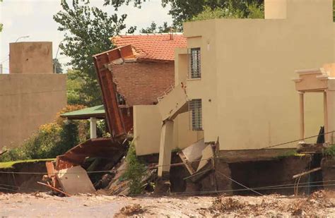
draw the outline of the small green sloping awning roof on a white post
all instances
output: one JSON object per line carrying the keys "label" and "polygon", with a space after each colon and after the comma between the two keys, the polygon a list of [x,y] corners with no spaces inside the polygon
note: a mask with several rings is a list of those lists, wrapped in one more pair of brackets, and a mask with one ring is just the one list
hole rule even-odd
{"label": "small green sloping awning roof on a white post", "polygon": [[61,117],[66,117],[67,119],[90,119],[90,117],[95,117],[98,119],[105,119],[105,108],[103,105],[88,107],[78,111],[71,111],[65,114],[61,114]]}

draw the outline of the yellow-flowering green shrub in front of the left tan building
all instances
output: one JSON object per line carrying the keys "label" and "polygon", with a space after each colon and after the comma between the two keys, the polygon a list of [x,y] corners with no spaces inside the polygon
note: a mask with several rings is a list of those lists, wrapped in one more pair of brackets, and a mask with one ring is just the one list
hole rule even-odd
{"label": "yellow-flowering green shrub in front of the left tan building", "polygon": [[54,158],[86,140],[88,121],[68,121],[60,117],[60,114],[83,108],[82,105],[66,106],[57,114],[54,122],[40,126],[37,133],[25,140],[22,146],[1,155],[0,162]]}

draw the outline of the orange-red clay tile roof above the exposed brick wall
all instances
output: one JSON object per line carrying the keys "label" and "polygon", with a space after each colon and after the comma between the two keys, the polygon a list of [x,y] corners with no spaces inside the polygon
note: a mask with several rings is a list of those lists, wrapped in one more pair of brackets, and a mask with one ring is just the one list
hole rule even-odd
{"label": "orange-red clay tile roof above the exposed brick wall", "polygon": [[130,44],[139,61],[175,61],[175,49],[187,47],[181,33],[119,35],[110,40],[117,47]]}

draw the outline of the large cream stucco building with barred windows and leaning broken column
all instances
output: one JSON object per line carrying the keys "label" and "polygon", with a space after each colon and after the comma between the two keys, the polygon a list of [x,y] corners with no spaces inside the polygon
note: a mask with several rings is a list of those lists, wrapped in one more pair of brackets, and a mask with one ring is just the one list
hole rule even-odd
{"label": "large cream stucco building with barred windows and leaning broken column", "polygon": [[[264,6],[265,19],[184,23],[187,48],[176,50],[175,89],[157,105],[134,107],[138,155],[159,152],[160,165],[169,164],[172,149],[201,138],[227,161],[298,145],[262,149],[300,138],[291,79],[298,69],[335,61],[332,1],[265,0]],[[324,126],[323,99],[318,92],[305,95],[306,137]]]}

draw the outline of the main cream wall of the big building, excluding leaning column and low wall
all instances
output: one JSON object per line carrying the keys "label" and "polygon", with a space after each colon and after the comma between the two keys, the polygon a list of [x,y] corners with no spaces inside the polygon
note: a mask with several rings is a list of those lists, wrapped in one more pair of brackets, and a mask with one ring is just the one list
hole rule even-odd
{"label": "main cream wall of the big building, excluding leaning column and low wall", "polygon": [[[187,94],[202,99],[206,142],[219,138],[221,150],[245,150],[299,138],[291,78],[297,69],[334,62],[332,1],[287,0],[286,13],[184,24],[187,47],[201,47],[202,77],[187,80]],[[322,96],[307,95],[306,136],[322,126],[322,106]]]}

